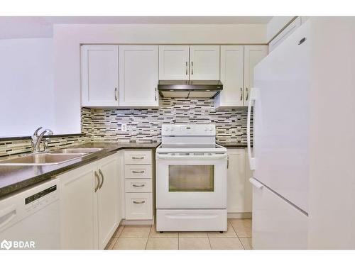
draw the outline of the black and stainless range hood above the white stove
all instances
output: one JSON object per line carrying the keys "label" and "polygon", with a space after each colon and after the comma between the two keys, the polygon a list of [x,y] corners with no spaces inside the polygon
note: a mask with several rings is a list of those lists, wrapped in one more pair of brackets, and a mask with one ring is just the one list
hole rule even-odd
{"label": "black and stainless range hood above the white stove", "polygon": [[219,80],[159,80],[158,92],[165,98],[214,98],[223,89]]}

